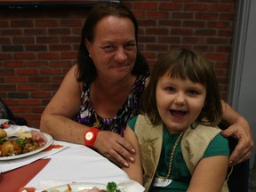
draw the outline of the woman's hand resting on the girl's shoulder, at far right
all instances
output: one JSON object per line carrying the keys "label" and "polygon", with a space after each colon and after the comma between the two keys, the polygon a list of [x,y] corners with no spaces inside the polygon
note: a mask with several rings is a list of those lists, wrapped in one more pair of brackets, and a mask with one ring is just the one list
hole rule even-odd
{"label": "woman's hand resting on the girl's shoulder, at far right", "polygon": [[224,137],[233,137],[238,140],[236,148],[229,156],[229,166],[239,164],[250,158],[253,147],[252,132],[250,125],[244,118],[240,118],[235,124],[231,124],[221,134]]}

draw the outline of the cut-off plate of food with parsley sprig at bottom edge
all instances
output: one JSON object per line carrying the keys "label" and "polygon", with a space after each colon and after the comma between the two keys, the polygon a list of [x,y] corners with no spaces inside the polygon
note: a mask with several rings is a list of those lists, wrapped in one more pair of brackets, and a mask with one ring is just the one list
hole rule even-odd
{"label": "cut-off plate of food with parsley sprig at bottom edge", "polygon": [[94,182],[77,182],[49,188],[47,192],[121,192],[115,182],[108,182],[108,185]]}

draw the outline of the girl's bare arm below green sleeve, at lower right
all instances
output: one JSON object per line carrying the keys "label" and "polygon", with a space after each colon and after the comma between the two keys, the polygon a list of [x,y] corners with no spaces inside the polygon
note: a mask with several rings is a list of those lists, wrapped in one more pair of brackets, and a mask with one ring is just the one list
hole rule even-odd
{"label": "girl's bare arm below green sleeve, at lower right", "polygon": [[196,165],[188,192],[220,192],[228,172],[228,156],[205,157]]}

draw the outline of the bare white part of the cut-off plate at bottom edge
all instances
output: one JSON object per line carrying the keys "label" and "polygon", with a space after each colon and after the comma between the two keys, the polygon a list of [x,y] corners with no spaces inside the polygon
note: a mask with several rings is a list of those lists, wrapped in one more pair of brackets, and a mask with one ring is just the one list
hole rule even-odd
{"label": "bare white part of the cut-off plate at bottom edge", "polygon": [[[72,192],[78,192],[82,191],[84,189],[91,189],[93,187],[100,188],[100,189],[106,189],[106,185],[102,183],[93,183],[93,182],[78,182],[78,183],[70,183],[69,186],[72,188]],[[66,185],[60,185],[54,188],[48,188],[47,191],[50,191],[55,189],[59,190],[60,192],[64,192],[68,188],[68,184]]]}

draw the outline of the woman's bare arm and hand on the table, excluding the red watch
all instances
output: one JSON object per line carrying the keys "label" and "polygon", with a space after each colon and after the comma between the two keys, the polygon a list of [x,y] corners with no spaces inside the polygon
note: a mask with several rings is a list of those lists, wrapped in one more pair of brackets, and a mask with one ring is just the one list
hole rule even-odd
{"label": "woman's bare arm and hand on the table, excluding the red watch", "polygon": [[[82,84],[76,81],[76,68],[70,68],[59,90],[44,109],[40,130],[51,134],[54,140],[84,144],[84,132],[89,127],[72,120],[80,106],[82,89]],[[133,146],[115,132],[100,131],[93,148],[119,166],[129,166],[129,161],[133,161]]]}

